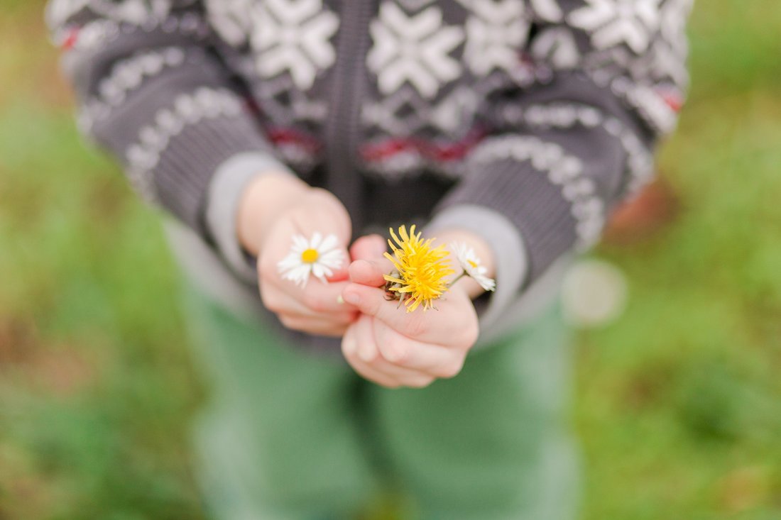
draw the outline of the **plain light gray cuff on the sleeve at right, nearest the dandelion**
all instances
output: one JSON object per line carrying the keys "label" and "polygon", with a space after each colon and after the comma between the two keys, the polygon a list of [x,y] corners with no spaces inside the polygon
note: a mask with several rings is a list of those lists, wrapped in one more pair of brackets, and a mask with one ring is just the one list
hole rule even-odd
{"label": "plain light gray cuff on the sleeve at right, nearest the dandelion", "polygon": [[426,234],[450,229],[475,233],[494,251],[496,291],[490,295],[487,308],[480,313],[480,330],[489,329],[515,301],[526,281],[526,245],[505,215],[480,205],[454,205],[444,209],[426,226]]}

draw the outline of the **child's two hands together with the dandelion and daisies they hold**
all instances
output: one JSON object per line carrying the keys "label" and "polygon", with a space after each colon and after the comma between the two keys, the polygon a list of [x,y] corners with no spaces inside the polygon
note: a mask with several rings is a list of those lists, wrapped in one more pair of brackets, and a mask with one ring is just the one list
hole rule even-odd
{"label": "child's two hands together with the dandelion and daisies they hold", "polygon": [[[244,201],[248,213],[241,217],[264,224],[239,223],[242,244],[258,255],[266,308],[291,329],[341,336],[348,363],[380,385],[422,387],[458,374],[479,333],[471,297],[495,287],[490,268],[466,245],[479,244],[484,254],[489,250],[480,238],[443,233],[464,241],[451,247],[454,255],[423,240],[414,226],[409,233],[402,226],[398,235],[391,230],[393,255],[375,235],[356,240],[348,256],[351,228],[344,206],[296,182],[262,178]],[[354,260],[349,268],[348,258]],[[454,264],[462,273],[452,280]],[[310,276],[323,283],[308,283]]]}

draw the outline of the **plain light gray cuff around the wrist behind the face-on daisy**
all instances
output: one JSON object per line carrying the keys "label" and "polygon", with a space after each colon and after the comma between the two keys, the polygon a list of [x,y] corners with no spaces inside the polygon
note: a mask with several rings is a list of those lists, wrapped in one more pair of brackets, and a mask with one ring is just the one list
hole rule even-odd
{"label": "plain light gray cuff around the wrist behind the face-on daisy", "polygon": [[255,264],[239,243],[236,224],[239,203],[248,184],[262,175],[294,175],[273,156],[263,152],[234,155],[220,164],[209,183],[205,223],[219,253],[230,269],[247,283],[258,283]]}

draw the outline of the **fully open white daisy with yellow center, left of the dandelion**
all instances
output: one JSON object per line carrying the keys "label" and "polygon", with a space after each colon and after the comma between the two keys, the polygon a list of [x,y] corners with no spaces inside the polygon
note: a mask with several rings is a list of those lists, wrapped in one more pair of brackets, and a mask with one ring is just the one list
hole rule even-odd
{"label": "fully open white daisy with yellow center, left of the dandelion", "polygon": [[326,276],[333,275],[332,269],[339,269],[344,262],[344,251],[337,248],[336,235],[315,233],[312,240],[302,235],[293,236],[291,252],[276,264],[283,280],[291,280],[296,285],[306,287],[311,272],[323,283]]}

